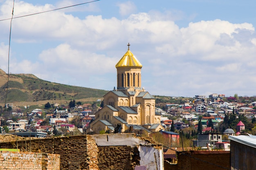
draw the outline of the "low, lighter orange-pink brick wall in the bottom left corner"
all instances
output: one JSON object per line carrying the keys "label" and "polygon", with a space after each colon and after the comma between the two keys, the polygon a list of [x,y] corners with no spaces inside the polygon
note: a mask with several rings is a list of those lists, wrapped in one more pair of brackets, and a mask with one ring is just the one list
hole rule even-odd
{"label": "low, lighter orange-pink brick wall in the bottom left corner", "polygon": [[0,152],[0,170],[60,170],[60,155],[35,152]]}

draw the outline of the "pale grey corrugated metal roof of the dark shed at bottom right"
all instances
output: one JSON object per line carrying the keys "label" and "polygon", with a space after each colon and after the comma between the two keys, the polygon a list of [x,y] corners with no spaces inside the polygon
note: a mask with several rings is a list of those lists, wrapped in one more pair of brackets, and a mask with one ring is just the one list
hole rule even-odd
{"label": "pale grey corrugated metal roof of the dark shed at bottom right", "polygon": [[246,135],[229,136],[229,139],[233,140],[233,141],[236,141],[240,144],[244,144],[244,145],[256,148],[256,136],[254,136],[254,135],[250,135],[250,136],[246,136]]}

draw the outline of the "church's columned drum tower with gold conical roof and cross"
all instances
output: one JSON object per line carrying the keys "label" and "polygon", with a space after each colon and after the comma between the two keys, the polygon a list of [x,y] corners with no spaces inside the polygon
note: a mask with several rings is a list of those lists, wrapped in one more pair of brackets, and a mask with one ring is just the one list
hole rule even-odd
{"label": "church's columned drum tower with gold conical roof and cross", "polygon": [[128,51],[116,64],[117,68],[117,89],[141,89],[141,68],[142,65],[135,55],[130,51],[128,43]]}

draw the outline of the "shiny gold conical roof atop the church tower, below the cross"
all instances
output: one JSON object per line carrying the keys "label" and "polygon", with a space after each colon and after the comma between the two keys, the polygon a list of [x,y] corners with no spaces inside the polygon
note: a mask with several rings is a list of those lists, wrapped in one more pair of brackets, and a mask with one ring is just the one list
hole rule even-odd
{"label": "shiny gold conical roof atop the church tower, below the cross", "polygon": [[139,60],[137,60],[137,58],[132,54],[130,49],[128,49],[128,51],[124,54],[121,60],[119,60],[119,62],[116,64],[116,68],[130,66],[142,67]]}

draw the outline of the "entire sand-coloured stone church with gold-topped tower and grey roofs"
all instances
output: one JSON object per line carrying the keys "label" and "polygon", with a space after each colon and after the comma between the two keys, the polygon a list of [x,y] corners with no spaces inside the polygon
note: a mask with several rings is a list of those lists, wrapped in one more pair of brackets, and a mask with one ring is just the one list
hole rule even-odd
{"label": "entire sand-coloured stone church with gold-topped tower and grey roofs", "polygon": [[141,88],[142,65],[135,55],[128,51],[117,62],[117,88],[103,96],[103,108],[95,113],[90,130],[120,132],[145,130],[148,133],[163,130],[161,115],[155,113],[155,98]]}

